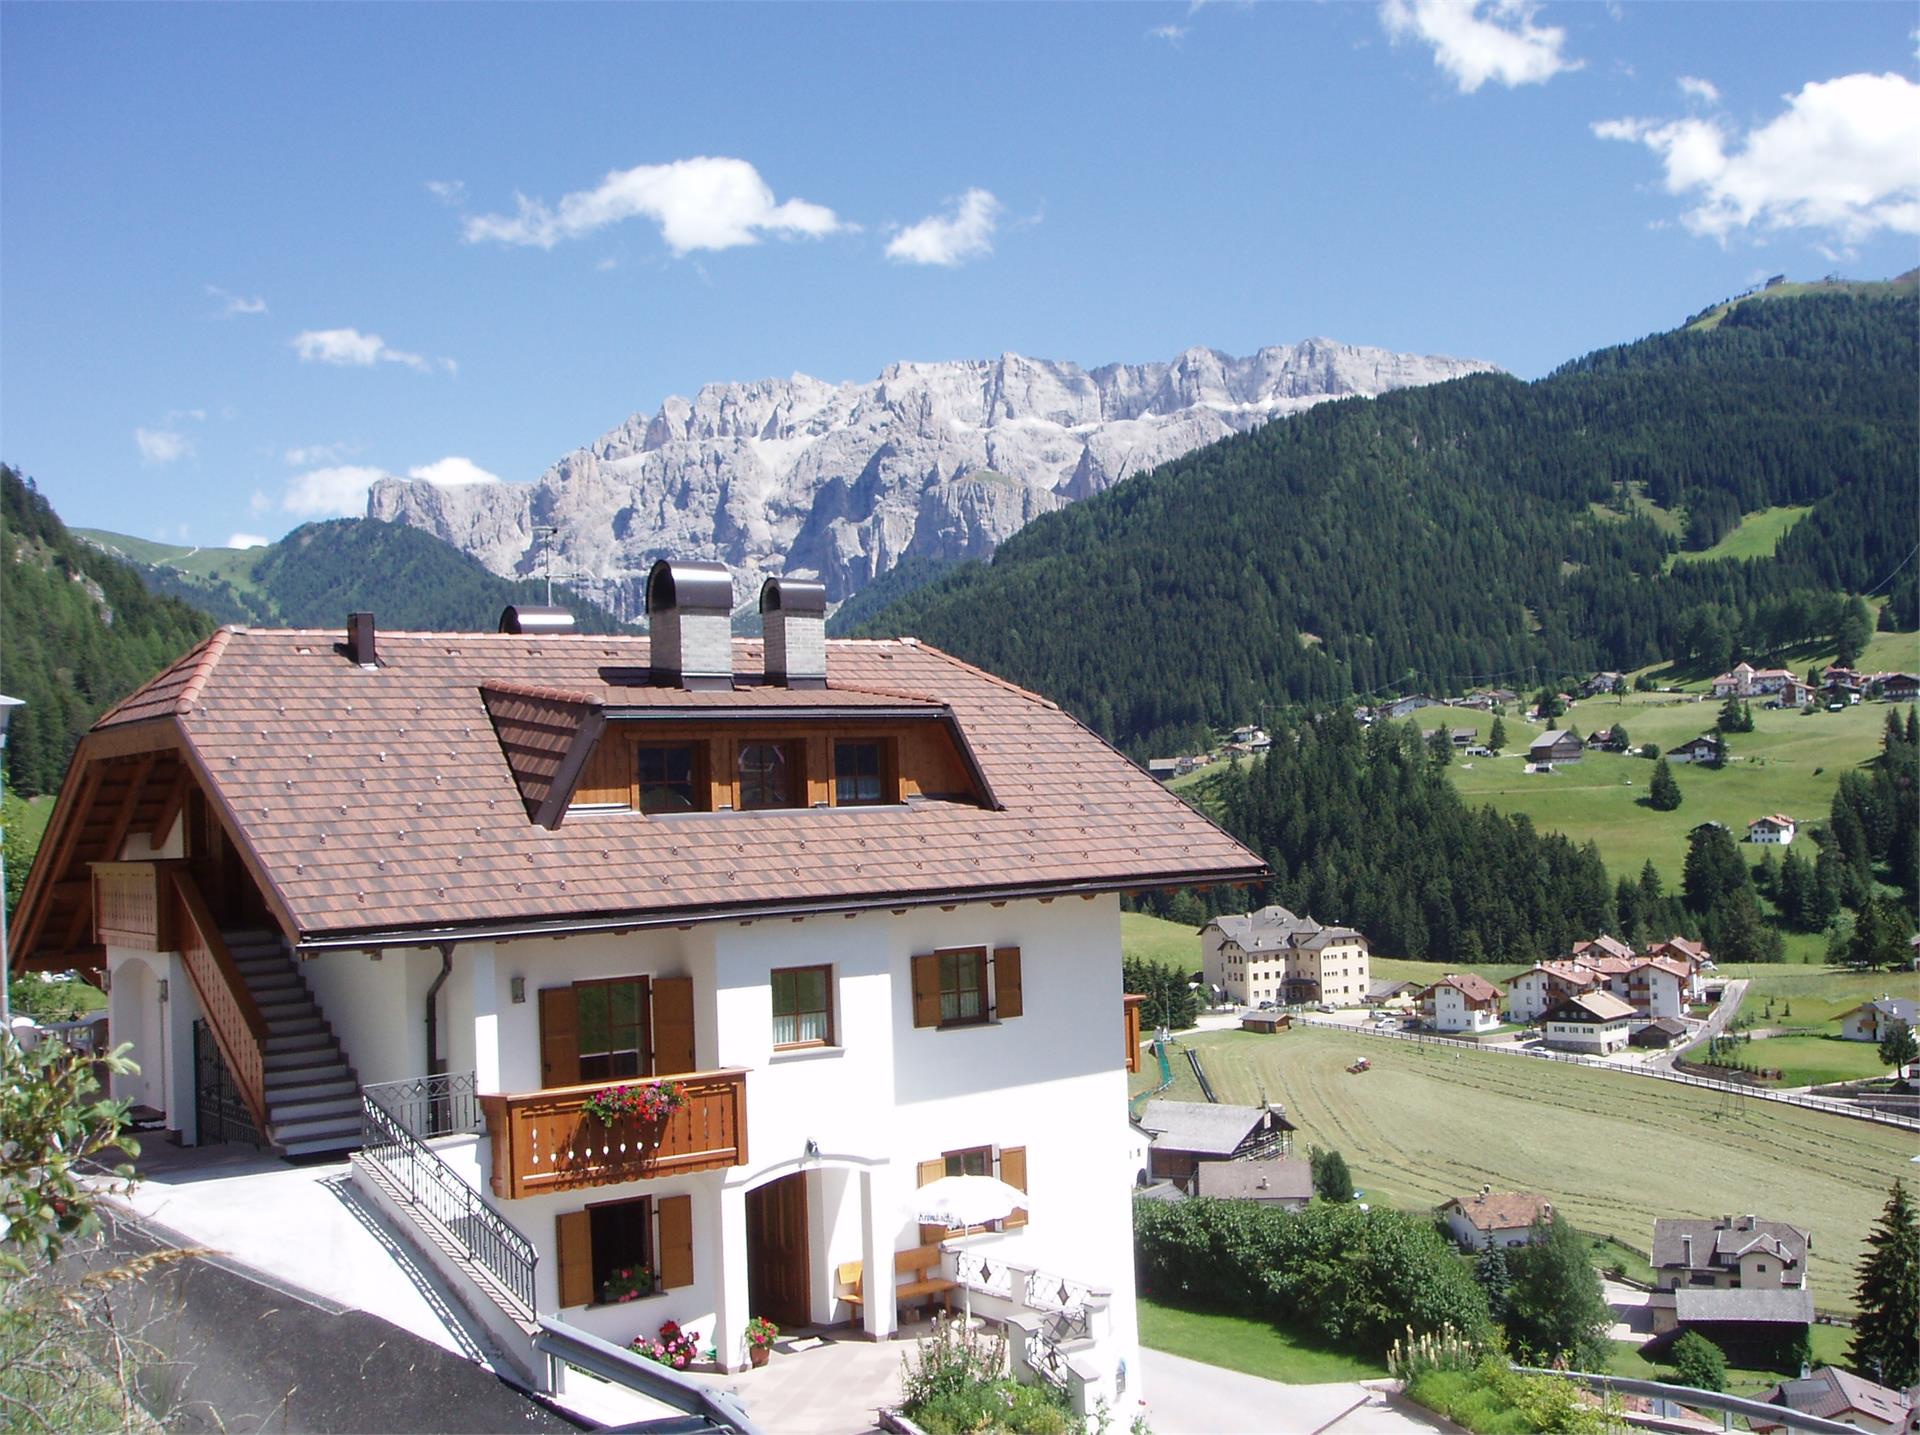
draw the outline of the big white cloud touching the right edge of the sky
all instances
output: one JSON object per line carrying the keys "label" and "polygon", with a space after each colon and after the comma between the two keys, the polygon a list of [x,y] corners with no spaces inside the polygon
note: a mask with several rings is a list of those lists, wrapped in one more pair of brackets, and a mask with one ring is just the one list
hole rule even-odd
{"label": "big white cloud touching the right edge of the sky", "polygon": [[1718,117],[1605,119],[1594,134],[1657,154],[1665,190],[1695,200],[1682,215],[1695,234],[1809,229],[1841,244],[1920,234],[1920,85],[1841,75],[1786,104],[1747,134]]}

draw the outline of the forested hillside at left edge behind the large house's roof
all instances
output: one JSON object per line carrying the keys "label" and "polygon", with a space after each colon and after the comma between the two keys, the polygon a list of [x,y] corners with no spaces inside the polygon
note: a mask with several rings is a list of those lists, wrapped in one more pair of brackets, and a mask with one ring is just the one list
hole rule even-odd
{"label": "forested hillside at left edge behind the large house's roof", "polygon": [[150,594],[0,467],[0,692],[25,701],[8,728],[10,791],[58,788],[94,718],[209,632],[213,619]]}

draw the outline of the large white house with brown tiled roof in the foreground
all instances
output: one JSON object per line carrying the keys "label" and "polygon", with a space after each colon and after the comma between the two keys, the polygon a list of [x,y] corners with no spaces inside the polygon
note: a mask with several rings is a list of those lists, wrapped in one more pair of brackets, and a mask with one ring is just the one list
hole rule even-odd
{"label": "large white house with brown tiled roof in the foreground", "polygon": [[[363,1147],[536,1383],[541,1320],[737,1370],[749,1316],[887,1339],[972,1277],[1073,1293],[1081,1397],[1135,1399],[1119,893],[1261,861],[1054,703],[828,642],[820,584],[732,605],[662,561],[651,638],[223,628],[81,742],[15,961],[108,985],[180,1141]],[[1031,1197],[985,1270],[914,1224],[947,1174]]]}

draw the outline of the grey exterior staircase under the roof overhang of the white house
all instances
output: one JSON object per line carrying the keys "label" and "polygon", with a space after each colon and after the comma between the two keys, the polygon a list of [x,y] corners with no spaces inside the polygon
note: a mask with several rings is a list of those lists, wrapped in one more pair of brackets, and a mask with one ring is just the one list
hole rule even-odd
{"label": "grey exterior staircase under the roof overhang of the white house", "polygon": [[359,1078],[278,932],[225,932],[267,1020],[267,1143],[284,1156],[357,1151]]}

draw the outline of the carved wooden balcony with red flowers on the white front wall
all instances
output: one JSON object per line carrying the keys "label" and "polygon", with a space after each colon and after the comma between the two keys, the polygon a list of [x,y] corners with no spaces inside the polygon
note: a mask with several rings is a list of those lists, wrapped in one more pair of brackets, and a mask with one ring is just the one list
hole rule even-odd
{"label": "carved wooden balcony with red flowers on the white front wall", "polygon": [[493,1195],[507,1201],[586,1185],[747,1164],[747,1072],[689,1072],[674,1082],[685,1105],[660,1122],[601,1122],[582,1107],[607,1085],[561,1085],[480,1097],[493,1149]]}

